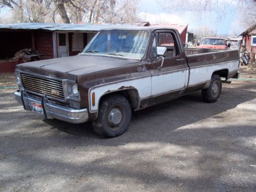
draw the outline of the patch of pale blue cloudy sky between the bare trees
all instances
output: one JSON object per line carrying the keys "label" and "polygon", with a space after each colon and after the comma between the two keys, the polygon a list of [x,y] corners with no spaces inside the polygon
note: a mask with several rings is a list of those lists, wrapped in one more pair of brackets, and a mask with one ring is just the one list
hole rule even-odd
{"label": "patch of pale blue cloudy sky between the bare trees", "polygon": [[234,11],[230,8],[225,10],[225,15],[222,19],[218,19],[217,13],[205,13],[199,18],[192,11],[179,13],[172,10],[172,13],[164,10],[155,0],[140,0],[141,17],[151,24],[188,24],[188,31],[201,26],[209,26],[216,30],[218,34],[228,34],[231,24],[236,18]]}

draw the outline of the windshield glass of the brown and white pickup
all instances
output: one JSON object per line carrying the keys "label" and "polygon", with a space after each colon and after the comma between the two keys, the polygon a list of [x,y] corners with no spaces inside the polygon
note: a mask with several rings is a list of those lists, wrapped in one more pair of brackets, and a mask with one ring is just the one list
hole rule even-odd
{"label": "windshield glass of the brown and white pickup", "polygon": [[83,50],[83,54],[142,58],[149,33],[142,30],[100,31]]}

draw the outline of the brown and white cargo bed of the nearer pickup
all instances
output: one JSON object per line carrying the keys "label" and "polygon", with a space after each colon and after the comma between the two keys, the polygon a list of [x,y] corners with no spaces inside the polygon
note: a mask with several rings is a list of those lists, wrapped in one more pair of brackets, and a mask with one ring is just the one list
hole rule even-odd
{"label": "brown and white cargo bed of the nearer pickup", "polygon": [[[200,53],[201,52],[201,53]],[[215,71],[221,77],[232,78],[239,69],[238,50],[185,49],[189,67],[188,88],[200,84],[207,87]]]}

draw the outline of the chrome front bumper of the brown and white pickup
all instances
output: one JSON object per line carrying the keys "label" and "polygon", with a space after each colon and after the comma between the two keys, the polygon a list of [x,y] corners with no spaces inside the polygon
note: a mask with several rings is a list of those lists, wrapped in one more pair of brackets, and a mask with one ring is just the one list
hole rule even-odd
{"label": "chrome front bumper of the brown and white pickup", "polygon": [[83,123],[88,121],[88,111],[86,108],[72,109],[66,106],[53,104],[49,102],[46,95],[44,95],[41,100],[38,100],[31,98],[25,92],[18,90],[14,92],[14,98],[18,103],[22,104],[27,111],[33,110],[33,102],[41,104],[44,110],[44,115],[48,119],[56,118],[71,123]]}

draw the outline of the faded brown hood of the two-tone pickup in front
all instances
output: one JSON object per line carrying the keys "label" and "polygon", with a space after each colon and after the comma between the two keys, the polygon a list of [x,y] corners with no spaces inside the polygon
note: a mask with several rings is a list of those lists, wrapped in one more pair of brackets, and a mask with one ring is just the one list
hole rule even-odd
{"label": "faded brown hood of the two-tone pickup in front", "polygon": [[113,69],[136,62],[140,62],[140,60],[100,55],[76,55],[27,62],[17,65],[16,69],[28,73],[76,80],[78,75]]}

